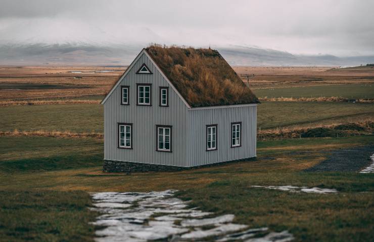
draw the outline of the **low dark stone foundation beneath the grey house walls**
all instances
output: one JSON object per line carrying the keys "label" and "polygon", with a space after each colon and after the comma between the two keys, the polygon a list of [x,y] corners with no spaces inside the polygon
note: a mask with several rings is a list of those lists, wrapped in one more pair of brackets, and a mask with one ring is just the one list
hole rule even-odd
{"label": "low dark stone foundation beneath the grey house walls", "polygon": [[256,157],[239,159],[239,160],[231,160],[231,161],[219,162],[219,163],[213,163],[213,164],[207,164],[207,165],[199,165],[199,166],[194,166],[194,167],[182,167],[182,166],[172,166],[172,165],[145,164],[145,163],[128,162],[128,161],[104,160],[103,171],[104,172],[125,172],[125,173],[147,172],[147,171],[178,171],[178,170],[189,170],[189,169],[197,169],[197,168],[202,168],[202,167],[223,165],[223,164],[239,162],[239,161],[250,161],[254,159],[256,159]]}

